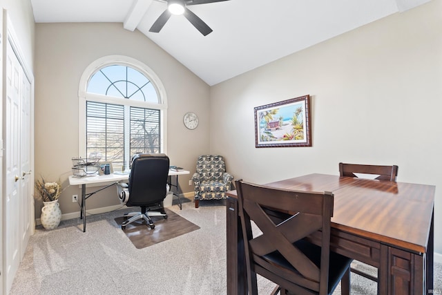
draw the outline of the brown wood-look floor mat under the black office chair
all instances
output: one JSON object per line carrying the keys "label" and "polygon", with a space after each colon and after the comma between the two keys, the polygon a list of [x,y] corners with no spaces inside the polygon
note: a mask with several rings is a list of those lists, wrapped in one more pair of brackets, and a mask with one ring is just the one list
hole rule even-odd
{"label": "brown wood-look floor mat under the black office chair", "polygon": [[[155,245],[158,242],[164,242],[165,240],[170,240],[177,236],[190,233],[200,229],[198,225],[193,224],[189,220],[182,218],[176,213],[169,209],[165,209],[167,214],[167,219],[162,216],[151,217],[154,229],[151,229],[142,219],[132,222],[126,225],[126,229],[122,229],[124,234],[131,240],[135,248],[143,249],[151,245]],[[121,225],[123,222],[123,217],[115,218],[117,225]]]}

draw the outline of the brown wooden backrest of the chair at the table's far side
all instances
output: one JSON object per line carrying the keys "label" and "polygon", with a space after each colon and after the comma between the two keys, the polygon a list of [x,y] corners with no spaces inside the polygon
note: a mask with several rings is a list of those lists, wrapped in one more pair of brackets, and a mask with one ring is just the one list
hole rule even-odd
{"label": "brown wooden backrest of the chair at the table's far side", "polygon": [[396,176],[398,175],[398,166],[339,163],[340,176],[358,177],[354,173],[379,175],[375,179],[396,182]]}

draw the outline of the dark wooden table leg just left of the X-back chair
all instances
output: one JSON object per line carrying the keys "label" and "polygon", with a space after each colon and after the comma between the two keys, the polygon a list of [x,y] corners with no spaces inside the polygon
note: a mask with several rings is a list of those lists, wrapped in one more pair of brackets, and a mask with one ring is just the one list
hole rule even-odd
{"label": "dark wooden table leg just left of the X-back chair", "polygon": [[227,294],[247,294],[244,242],[238,200],[227,198]]}

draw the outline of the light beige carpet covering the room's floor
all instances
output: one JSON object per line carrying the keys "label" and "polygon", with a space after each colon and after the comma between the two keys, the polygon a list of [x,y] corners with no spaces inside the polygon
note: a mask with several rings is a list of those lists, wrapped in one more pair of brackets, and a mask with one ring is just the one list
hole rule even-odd
{"label": "light beige carpet covering the room's floor", "polygon": [[[115,222],[135,207],[89,215],[86,232],[79,218],[51,231],[37,227],[9,295],[226,295],[226,207],[206,201],[195,209],[192,201],[168,209],[200,229],[144,249],[135,248]],[[352,295],[376,295],[375,283],[356,274],[350,281]],[[258,294],[273,287],[258,276]],[[434,263],[434,294],[441,290],[442,264]]]}

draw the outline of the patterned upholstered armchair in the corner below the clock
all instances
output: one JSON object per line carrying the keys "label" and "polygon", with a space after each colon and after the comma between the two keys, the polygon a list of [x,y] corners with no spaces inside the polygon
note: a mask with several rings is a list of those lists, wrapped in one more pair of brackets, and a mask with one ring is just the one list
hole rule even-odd
{"label": "patterned upholstered armchair in the corner below the clock", "polygon": [[196,164],[196,173],[192,176],[195,184],[195,208],[200,200],[225,199],[225,193],[231,189],[233,175],[226,172],[222,155],[200,155]]}

